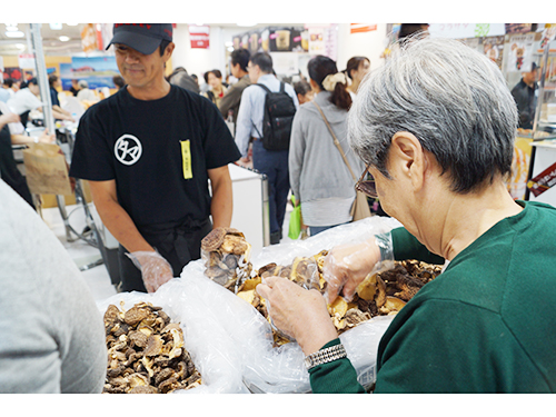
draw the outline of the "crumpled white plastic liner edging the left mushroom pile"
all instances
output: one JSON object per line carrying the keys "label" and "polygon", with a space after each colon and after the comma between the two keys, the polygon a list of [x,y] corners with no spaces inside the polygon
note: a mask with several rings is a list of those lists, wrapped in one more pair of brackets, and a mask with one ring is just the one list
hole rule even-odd
{"label": "crumpled white plastic liner edging the left mushroom pile", "polygon": [[[219,287],[208,278],[203,279]],[[121,292],[97,302],[97,307],[103,315],[111,304],[121,308],[120,301],[125,301],[123,309],[128,310],[136,302],[146,301],[162,307],[173,322],[180,322],[185,348],[201,374],[202,384],[172,394],[248,393],[241,381],[241,356],[238,349],[235,347],[230,349],[230,346],[234,346],[232,340],[211,315],[203,315],[208,306],[195,296],[195,291],[186,288],[187,284],[180,279],[172,279],[157,292]]]}

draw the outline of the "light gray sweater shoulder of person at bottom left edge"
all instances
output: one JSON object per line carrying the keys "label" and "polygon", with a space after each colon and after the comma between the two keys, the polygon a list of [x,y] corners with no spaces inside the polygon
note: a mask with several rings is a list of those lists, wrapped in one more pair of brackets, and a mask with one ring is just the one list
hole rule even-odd
{"label": "light gray sweater shoulder of person at bottom left edge", "polygon": [[91,291],[42,219],[0,180],[0,393],[100,394],[105,326]]}

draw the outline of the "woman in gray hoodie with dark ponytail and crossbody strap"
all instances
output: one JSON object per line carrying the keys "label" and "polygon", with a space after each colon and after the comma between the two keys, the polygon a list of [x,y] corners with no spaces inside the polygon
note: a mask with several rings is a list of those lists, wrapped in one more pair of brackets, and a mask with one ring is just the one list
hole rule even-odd
{"label": "woman in gray hoodie with dark ponytail and crossbody strap", "polygon": [[[347,143],[347,115],[351,97],[347,79],[336,62],[317,56],[307,64],[315,100],[301,105],[294,118],[289,148],[289,183],[301,203],[304,224],[311,236],[351,221],[356,191],[354,178],[335,145],[325,119],[336,136],[351,169],[365,166]],[[320,110],[319,110],[320,109]]]}

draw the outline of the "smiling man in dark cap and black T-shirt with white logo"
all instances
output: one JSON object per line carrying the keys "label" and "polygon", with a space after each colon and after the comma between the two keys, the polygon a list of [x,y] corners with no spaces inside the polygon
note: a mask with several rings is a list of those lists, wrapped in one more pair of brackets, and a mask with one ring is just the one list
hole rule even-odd
{"label": "smiling man in dark cap and black T-shirt with white logo", "polygon": [[122,290],[152,292],[200,257],[212,227],[229,227],[228,163],[241,155],[209,100],[166,80],[170,23],[116,23],[112,44],[127,86],[81,117],[70,175],[90,181],[120,242]]}

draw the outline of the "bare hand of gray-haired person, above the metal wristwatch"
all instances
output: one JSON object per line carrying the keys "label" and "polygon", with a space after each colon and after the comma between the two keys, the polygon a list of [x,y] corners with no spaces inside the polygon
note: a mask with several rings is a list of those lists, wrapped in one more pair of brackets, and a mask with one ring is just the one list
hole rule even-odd
{"label": "bare hand of gray-haired person, above the metal wristwatch", "polygon": [[316,289],[307,290],[286,278],[264,278],[257,292],[265,298],[272,322],[294,337],[305,355],[318,351],[338,337],[326,307]]}

